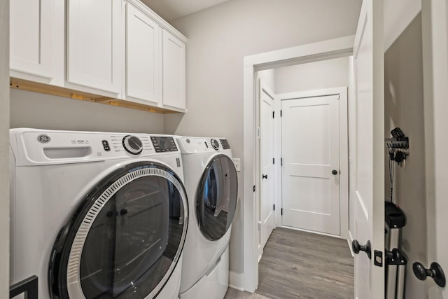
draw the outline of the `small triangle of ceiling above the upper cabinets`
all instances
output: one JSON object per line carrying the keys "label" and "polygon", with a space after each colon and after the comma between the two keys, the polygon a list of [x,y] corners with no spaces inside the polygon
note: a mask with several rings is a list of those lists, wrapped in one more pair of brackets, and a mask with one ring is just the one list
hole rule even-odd
{"label": "small triangle of ceiling above the upper cabinets", "polygon": [[229,0],[141,0],[160,17],[171,22]]}

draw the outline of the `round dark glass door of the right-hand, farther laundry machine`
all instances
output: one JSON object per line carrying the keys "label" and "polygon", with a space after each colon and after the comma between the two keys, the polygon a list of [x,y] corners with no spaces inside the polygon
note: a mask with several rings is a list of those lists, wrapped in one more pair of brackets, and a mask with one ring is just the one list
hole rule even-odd
{"label": "round dark glass door of the right-hand, farther laundry machine", "polygon": [[237,207],[237,170],[227,155],[216,155],[204,170],[197,190],[197,219],[202,235],[218,240],[225,235]]}

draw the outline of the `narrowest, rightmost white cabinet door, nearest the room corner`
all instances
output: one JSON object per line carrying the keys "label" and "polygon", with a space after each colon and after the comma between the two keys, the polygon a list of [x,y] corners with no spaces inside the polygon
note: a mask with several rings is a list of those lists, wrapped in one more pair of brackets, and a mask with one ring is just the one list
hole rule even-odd
{"label": "narrowest, rightmost white cabinet door, nearest the room corner", "polygon": [[163,32],[163,106],[186,109],[185,43]]}

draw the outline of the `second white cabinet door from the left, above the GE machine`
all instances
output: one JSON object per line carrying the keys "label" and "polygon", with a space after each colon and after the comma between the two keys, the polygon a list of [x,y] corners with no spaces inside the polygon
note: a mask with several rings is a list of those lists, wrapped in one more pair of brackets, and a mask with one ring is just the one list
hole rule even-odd
{"label": "second white cabinet door from the left, above the GE machine", "polygon": [[67,81],[121,91],[121,1],[67,1]]}

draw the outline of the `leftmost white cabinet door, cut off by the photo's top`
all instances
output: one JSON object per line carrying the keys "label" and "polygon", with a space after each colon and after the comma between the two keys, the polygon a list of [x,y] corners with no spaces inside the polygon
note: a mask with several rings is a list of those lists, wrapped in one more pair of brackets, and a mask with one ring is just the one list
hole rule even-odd
{"label": "leftmost white cabinet door, cut off by the photo's top", "polygon": [[54,0],[10,1],[10,69],[53,78]]}

